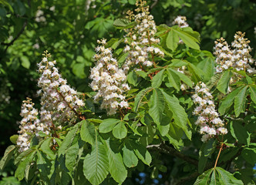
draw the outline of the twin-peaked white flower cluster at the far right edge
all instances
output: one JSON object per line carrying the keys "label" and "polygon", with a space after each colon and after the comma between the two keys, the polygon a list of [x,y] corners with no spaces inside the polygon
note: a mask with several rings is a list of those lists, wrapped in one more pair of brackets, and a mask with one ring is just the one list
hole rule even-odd
{"label": "twin-peaked white flower cluster at the far right edge", "polygon": [[217,62],[216,72],[223,72],[231,67],[237,71],[255,72],[255,69],[250,66],[254,62],[250,55],[251,47],[248,45],[250,41],[244,39],[244,35],[242,32],[237,32],[234,35],[234,42],[231,43],[233,49],[230,49],[225,39],[217,39],[214,47]]}

